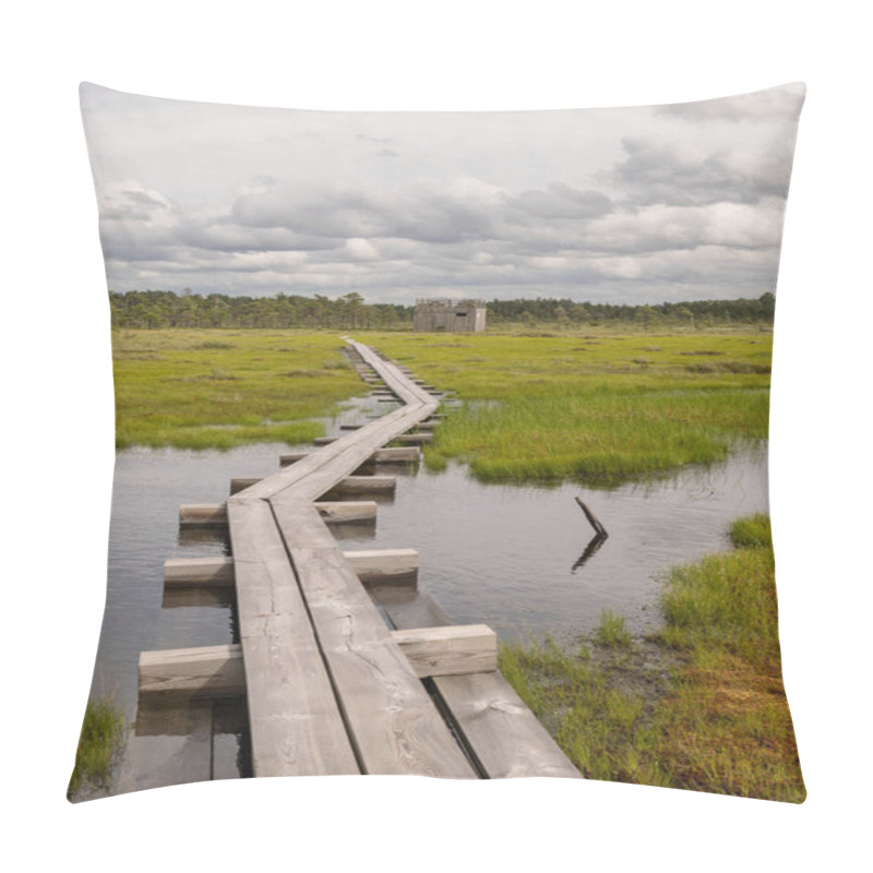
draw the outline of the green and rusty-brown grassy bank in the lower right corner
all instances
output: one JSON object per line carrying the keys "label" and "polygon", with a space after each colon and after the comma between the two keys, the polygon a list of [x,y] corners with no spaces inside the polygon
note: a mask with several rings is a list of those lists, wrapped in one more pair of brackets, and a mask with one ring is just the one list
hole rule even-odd
{"label": "green and rusty-brown grassy bank in the lower right corner", "polygon": [[800,803],[805,789],[781,680],[766,516],[734,550],[677,567],[663,630],[635,641],[605,614],[576,650],[501,649],[500,667],[593,779]]}

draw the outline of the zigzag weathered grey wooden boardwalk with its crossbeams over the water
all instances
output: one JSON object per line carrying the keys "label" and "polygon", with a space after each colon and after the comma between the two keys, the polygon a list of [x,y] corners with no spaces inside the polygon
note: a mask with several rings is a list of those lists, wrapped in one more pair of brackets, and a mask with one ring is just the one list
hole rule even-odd
{"label": "zigzag weathered grey wooden boardwalk with its crossbeams over the water", "polygon": [[498,671],[494,633],[453,625],[416,589],[414,550],[343,551],[331,533],[376,509],[337,497],[393,487],[362,470],[420,454],[384,446],[426,442],[438,421],[432,388],[348,344],[403,405],[234,480],[226,504],[182,507],[183,524],[226,524],[232,558],[170,560],[165,584],[235,586],[240,643],[143,653],[141,695],[244,694],[255,776],[578,777]]}

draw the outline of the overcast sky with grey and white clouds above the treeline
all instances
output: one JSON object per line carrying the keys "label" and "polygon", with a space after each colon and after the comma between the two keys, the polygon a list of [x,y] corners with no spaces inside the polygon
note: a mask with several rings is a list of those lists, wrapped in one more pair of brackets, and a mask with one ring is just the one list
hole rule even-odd
{"label": "overcast sky with grey and white clouds above the treeline", "polygon": [[82,86],[109,288],[400,303],[774,291],[802,101],[318,112]]}

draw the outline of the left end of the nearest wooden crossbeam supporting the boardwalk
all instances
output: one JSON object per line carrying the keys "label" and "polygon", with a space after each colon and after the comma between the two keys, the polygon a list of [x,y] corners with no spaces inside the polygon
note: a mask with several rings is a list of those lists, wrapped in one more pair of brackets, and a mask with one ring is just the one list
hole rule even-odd
{"label": "left end of the nearest wooden crossbeam supporting the boardwalk", "polygon": [[176,648],[140,654],[140,695],[236,696],[243,685],[237,645]]}

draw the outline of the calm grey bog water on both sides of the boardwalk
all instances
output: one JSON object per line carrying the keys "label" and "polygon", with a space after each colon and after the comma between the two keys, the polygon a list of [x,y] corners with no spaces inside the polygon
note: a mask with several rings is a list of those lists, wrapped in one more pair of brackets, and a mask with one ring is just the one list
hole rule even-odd
{"label": "calm grey bog water on both sides of the boardwalk", "polygon": [[[340,423],[392,408],[359,400],[331,419],[327,432],[339,435]],[[231,596],[165,597],[163,564],[227,554],[220,537],[180,535],[180,504],[219,503],[231,477],[268,476],[288,451],[263,444],[118,453],[93,693],[112,694],[135,730],[112,792],[248,775],[244,703],[137,708],[137,661],[144,650],[238,642]],[[342,547],[418,550],[419,589],[453,621],[488,624],[504,641],[548,632],[572,643],[598,625],[605,608],[624,615],[633,634],[655,629],[669,567],[729,548],[729,524],[768,507],[766,446],[610,491],[483,486],[461,465],[439,474],[423,466],[396,471],[403,474],[396,494],[380,499],[375,525],[346,526]],[[609,533],[599,548],[587,548],[594,531],[575,498]]]}

